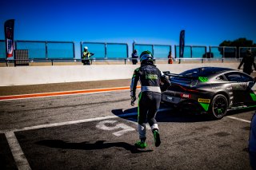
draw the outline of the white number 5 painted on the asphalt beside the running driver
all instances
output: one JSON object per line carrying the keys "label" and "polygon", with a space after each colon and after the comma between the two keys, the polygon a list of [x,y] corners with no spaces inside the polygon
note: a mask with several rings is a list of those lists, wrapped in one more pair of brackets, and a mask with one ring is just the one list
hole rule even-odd
{"label": "white number 5 painted on the asphalt beside the running driver", "polygon": [[118,121],[101,121],[96,125],[97,128],[102,129],[102,130],[116,130],[122,128],[122,130],[119,130],[118,132],[114,132],[113,135],[115,136],[122,136],[126,132],[131,132],[134,131],[135,128],[132,128],[128,125],[125,124],[117,124]]}

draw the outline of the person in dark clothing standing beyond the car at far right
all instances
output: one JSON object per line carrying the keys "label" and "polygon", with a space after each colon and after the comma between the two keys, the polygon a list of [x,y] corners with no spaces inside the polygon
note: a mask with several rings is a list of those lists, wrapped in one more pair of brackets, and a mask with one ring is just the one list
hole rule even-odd
{"label": "person in dark clothing standing beyond the car at far right", "polygon": [[253,72],[253,69],[252,69],[253,65],[254,65],[254,70],[256,71],[256,65],[254,63],[254,55],[250,49],[246,51],[246,56],[242,58],[242,61],[238,66],[238,69],[240,69],[242,65],[243,65],[243,69],[242,69],[243,73],[247,73],[250,75],[250,73]]}

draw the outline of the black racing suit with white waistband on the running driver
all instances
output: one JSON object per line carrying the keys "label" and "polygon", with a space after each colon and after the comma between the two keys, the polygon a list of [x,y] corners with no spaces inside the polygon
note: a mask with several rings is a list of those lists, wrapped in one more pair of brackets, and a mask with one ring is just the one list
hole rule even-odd
{"label": "black racing suit with white waistband on the running driver", "polygon": [[151,130],[158,130],[155,120],[161,102],[160,82],[164,83],[164,89],[170,86],[170,81],[151,61],[142,62],[141,67],[134,70],[130,85],[130,96],[136,96],[138,80],[141,83],[141,93],[138,98],[138,133],[141,140],[146,140],[146,121]]}

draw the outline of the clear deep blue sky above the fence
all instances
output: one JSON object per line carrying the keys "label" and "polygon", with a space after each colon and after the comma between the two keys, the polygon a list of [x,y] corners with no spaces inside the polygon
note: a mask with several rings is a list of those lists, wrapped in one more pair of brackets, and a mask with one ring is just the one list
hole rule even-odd
{"label": "clear deep blue sky above the fence", "polygon": [[14,18],[16,40],[178,45],[186,30],[186,45],[256,43],[255,7],[255,0],[1,0],[0,39]]}

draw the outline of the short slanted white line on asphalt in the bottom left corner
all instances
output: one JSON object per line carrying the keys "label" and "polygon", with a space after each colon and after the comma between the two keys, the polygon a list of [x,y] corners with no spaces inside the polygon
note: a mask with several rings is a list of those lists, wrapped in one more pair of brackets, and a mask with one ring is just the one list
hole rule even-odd
{"label": "short slanted white line on asphalt in the bottom left corner", "polygon": [[14,135],[14,132],[5,132],[5,135],[18,169],[31,169],[30,164],[26,160],[26,156],[22,152],[21,146],[18,144],[18,140]]}

